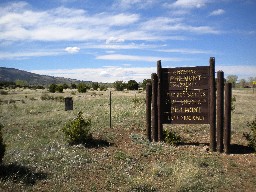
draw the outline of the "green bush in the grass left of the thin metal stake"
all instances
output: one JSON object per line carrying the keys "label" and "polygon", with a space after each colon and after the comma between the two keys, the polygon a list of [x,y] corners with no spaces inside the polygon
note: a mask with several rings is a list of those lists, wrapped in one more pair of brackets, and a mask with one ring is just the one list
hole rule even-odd
{"label": "green bush in the grass left of the thin metal stake", "polygon": [[92,140],[90,133],[91,120],[85,120],[80,111],[76,118],[66,123],[62,131],[69,144],[86,144]]}

